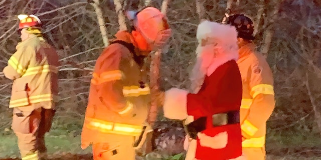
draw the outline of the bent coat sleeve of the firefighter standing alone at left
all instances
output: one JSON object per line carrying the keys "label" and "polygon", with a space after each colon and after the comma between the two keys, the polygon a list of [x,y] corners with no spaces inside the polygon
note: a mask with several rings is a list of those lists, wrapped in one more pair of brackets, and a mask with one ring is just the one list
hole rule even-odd
{"label": "bent coat sleeve of the firefighter standing alone at left", "polygon": [[36,54],[36,48],[33,46],[24,46],[9,58],[8,65],[3,72],[9,79],[20,78],[27,70],[30,59]]}

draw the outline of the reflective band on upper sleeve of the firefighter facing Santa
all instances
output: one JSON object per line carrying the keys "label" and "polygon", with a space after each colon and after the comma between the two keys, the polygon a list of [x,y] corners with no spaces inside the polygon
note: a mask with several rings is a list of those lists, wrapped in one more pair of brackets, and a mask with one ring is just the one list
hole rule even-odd
{"label": "reflective band on upper sleeve of the firefighter facing Santa", "polygon": [[102,72],[100,75],[98,75],[97,73],[93,73],[91,83],[98,85],[107,81],[120,80],[121,77],[122,74],[120,70],[105,71]]}

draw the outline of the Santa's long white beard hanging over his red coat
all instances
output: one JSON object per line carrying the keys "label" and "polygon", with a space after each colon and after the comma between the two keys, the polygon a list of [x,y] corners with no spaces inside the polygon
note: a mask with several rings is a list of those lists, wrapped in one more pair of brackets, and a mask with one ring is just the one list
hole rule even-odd
{"label": "Santa's long white beard hanging over his red coat", "polygon": [[190,75],[190,80],[191,80],[190,91],[192,93],[199,92],[199,90],[202,87],[205,75],[207,73],[207,69],[211,65],[215,57],[214,48],[215,47],[212,45],[206,45],[206,46],[199,45],[196,48],[197,59]]}

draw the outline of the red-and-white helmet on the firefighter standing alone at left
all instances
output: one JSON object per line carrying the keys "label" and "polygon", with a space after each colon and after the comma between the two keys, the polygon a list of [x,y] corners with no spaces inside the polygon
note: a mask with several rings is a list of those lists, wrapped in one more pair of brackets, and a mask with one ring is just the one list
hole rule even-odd
{"label": "red-and-white helmet on the firefighter standing alone at left", "polygon": [[41,28],[41,21],[36,15],[20,14],[18,18],[20,20],[19,29],[29,27]]}

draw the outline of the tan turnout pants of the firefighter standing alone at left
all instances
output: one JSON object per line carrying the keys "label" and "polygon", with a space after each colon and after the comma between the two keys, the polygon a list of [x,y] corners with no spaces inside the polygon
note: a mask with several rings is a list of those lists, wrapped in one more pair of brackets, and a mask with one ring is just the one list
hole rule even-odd
{"label": "tan turnout pants of the firefighter standing alone at left", "polygon": [[12,129],[18,137],[22,160],[38,160],[46,154],[45,133],[51,128],[55,110],[42,107],[32,111],[13,110]]}

